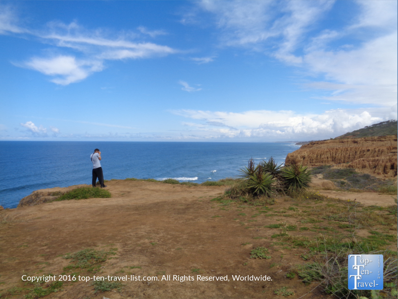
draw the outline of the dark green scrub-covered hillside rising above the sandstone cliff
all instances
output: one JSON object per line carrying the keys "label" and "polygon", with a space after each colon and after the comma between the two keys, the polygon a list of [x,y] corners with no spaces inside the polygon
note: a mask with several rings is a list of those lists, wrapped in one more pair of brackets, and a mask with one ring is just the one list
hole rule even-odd
{"label": "dark green scrub-covered hillside rising above the sandstone cliff", "polygon": [[397,135],[398,133],[397,126],[398,122],[394,120],[382,122],[369,127],[365,127],[363,129],[346,133],[344,135],[336,137],[335,139]]}

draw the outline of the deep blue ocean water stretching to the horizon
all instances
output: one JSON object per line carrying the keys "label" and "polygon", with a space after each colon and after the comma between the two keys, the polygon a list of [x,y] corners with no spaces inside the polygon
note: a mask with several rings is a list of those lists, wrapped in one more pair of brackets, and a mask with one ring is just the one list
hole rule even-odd
{"label": "deep blue ocean water stretching to the horizon", "polygon": [[104,179],[175,178],[201,183],[236,177],[253,157],[278,163],[291,143],[0,142],[0,205],[14,208],[37,189],[91,184],[90,154],[101,150]]}

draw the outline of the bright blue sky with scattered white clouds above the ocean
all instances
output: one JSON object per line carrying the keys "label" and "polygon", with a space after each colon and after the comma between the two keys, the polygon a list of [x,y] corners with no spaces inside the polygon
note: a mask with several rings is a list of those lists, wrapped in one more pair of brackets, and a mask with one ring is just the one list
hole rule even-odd
{"label": "bright blue sky with scattered white clouds above the ocean", "polygon": [[309,141],[397,120],[397,3],[0,1],[0,140]]}

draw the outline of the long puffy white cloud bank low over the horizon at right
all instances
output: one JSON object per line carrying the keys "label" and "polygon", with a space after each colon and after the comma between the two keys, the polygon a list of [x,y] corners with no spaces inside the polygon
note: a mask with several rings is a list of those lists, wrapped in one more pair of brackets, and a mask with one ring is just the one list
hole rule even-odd
{"label": "long puffy white cloud bank low over the horizon at right", "polygon": [[203,138],[250,138],[250,140],[328,139],[382,121],[397,119],[397,106],[356,110],[328,110],[323,114],[297,114],[293,111],[245,111],[242,113],[178,110],[173,114],[204,125],[185,123]]}

